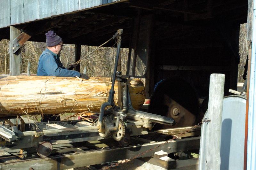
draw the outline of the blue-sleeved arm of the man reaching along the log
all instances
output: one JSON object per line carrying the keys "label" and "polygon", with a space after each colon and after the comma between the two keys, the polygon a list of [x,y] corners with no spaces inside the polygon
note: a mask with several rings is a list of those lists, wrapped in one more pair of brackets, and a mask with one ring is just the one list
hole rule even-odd
{"label": "blue-sleeved arm of the man reaching along the log", "polygon": [[58,67],[55,59],[52,56],[45,56],[43,68],[49,76],[56,77],[80,77],[80,73],[74,70]]}

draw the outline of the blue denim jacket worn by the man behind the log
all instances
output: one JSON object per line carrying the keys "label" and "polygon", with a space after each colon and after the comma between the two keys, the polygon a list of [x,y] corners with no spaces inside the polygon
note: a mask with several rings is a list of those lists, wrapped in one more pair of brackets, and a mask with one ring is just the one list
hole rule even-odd
{"label": "blue denim jacket worn by the man behind the log", "polygon": [[56,77],[80,77],[79,72],[74,70],[68,70],[63,67],[62,63],[60,62],[60,56],[53,53],[47,48],[43,51],[39,58],[37,75]]}

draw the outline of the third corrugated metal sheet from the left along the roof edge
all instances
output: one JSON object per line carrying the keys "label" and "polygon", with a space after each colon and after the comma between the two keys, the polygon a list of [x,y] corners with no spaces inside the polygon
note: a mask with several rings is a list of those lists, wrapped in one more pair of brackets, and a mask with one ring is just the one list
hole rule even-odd
{"label": "third corrugated metal sheet from the left along the roof edge", "polygon": [[39,1],[24,0],[24,22],[39,19]]}

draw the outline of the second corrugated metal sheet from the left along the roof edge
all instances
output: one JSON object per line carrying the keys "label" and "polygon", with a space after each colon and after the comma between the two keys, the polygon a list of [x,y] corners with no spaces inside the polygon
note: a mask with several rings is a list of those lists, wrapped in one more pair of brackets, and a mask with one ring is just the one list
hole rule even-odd
{"label": "second corrugated metal sheet from the left along the roof edge", "polygon": [[11,0],[11,25],[24,22],[24,0]]}

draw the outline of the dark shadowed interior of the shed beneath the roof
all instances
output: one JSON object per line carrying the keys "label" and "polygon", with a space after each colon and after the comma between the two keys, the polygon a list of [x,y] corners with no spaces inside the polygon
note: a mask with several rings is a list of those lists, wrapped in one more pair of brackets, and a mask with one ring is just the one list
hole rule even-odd
{"label": "dark shadowed interior of the shed beneath the roof", "polygon": [[[45,42],[45,32],[53,30],[64,43],[91,46],[122,28],[121,47],[133,51],[128,74],[146,78],[147,97],[158,81],[173,76],[207,97],[211,73],[226,75],[224,95],[236,90],[239,26],[247,10],[245,0],[129,0],[15,27],[31,35],[28,41]],[[10,39],[10,27],[0,30],[0,39]]]}

